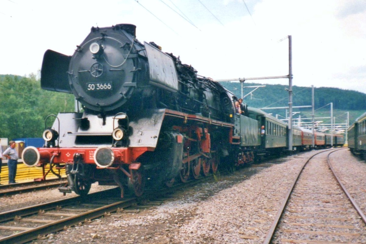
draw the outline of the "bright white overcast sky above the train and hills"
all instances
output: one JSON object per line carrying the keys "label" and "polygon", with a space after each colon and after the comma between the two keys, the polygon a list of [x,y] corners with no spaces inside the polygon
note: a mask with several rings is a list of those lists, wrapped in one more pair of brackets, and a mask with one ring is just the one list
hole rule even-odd
{"label": "bright white overcast sky above the train and hills", "polygon": [[131,23],[213,79],[287,75],[292,35],[293,85],[366,93],[365,0],[0,0],[0,23],[0,74],[38,74],[47,49],[72,55],[92,26]]}

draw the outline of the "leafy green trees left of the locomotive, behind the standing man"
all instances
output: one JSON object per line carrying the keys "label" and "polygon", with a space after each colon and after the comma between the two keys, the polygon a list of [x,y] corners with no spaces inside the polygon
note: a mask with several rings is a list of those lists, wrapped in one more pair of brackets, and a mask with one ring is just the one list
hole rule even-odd
{"label": "leafy green trees left of the locomotive, behind the standing man", "polygon": [[74,96],[42,90],[35,75],[0,76],[0,137],[40,137],[49,114],[71,112]]}

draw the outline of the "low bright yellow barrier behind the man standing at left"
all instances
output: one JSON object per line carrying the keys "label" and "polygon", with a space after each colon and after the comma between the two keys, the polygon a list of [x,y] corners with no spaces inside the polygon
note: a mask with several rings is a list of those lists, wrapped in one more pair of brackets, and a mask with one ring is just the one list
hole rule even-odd
{"label": "low bright yellow barrier behind the man standing at left", "polygon": [[[45,172],[49,170],[49,165],[45,167]],[[57,174],[59,173],[59,170],[53,169]],[[60,170],[61,177],[66,177],[66,173],[64,169]],[[17,165],[16,170],[16,182],[25,182],[25,181],[33,181],[37,178],[42,178],[42,168],[41,167],[28,167],[22,162]],[[56,179],[57,176],[55,176],[52,172],[49,172],[46,176],[46,179]],[[4,163],[3,160],[3,166],[1,167],[1,184],[8,184],[8,165]]]}

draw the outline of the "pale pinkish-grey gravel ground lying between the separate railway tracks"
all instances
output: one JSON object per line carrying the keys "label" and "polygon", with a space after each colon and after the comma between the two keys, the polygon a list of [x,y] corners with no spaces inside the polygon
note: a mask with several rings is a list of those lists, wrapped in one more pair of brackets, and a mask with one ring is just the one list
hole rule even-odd
{"label": "pale pinkish-grey gravel ground lying between the separate railway tracks", "polygon": [[[177,191],[161,205],[139,213],[113,213],[32,243],[262,243],[290,183],[316,152],[250,165],[217,181]],[[357,161],[348,150],[334,154],[349,164]],[[2,199],[0,209],[60,198],[64,197],[57,189],[15,195]]]}

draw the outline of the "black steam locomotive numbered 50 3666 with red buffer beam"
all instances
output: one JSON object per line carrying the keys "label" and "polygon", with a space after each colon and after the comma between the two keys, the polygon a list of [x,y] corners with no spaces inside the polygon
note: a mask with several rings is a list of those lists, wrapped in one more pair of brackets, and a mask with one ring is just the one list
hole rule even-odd
{"label": "black steam locomotive numbered 50 3666 with red buffer beam", "polygon": [[27,147],[22,158],[64,167],[61,192],[85,195],[98,182],[140,196],[145,184],[216,172],[238,144],[234,94],[154,42],[139,42],[135,30],[92,27],[72,56],[44,54],[42,89],[74,94],[81,109],[54,116],[44,147]]}

